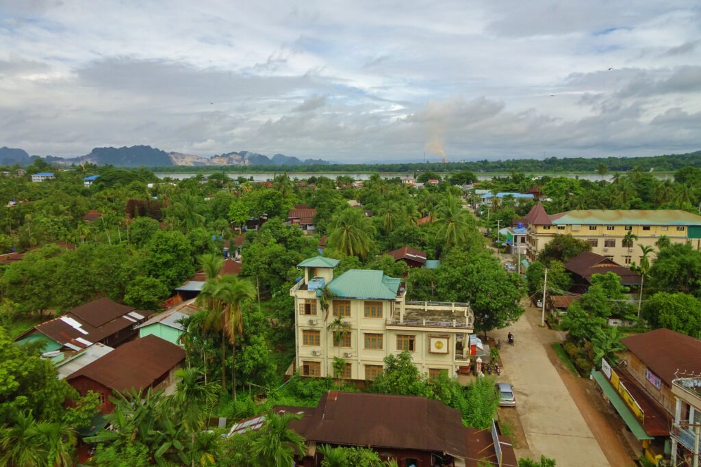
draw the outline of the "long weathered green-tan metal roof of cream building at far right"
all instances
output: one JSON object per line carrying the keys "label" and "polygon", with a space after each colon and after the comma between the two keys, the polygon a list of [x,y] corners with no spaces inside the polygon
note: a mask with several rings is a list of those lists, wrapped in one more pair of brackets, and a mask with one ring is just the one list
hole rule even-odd
{"label": "long weathered green-tan metal roof of cream building at far right", "polygon": [[701,225],[701,216],[679,209],[581,209],[550,216],[550,223],[583,225]]}

